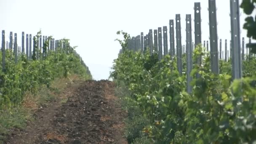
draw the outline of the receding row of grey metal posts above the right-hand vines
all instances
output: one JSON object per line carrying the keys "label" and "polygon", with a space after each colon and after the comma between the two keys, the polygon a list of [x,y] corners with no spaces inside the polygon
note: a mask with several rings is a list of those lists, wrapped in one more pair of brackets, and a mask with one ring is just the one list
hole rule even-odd
{"label": "receding row of grey metal posts above the right-hand vines", "polygon": [[[218,51],[218,34],[217,34],[217,19],[216,19],[216,0],[208,0],[208,11],[209,11],[209,31],[210,31],[210,56],[211,56],[211,71],[218,75],[219,74],[219,59],[225,57],[225,61],[228,59],[227,51],[227,40],[225,40],[225,56],[222,51],[222,42],[219,40],[220,53]],[[176,14],[176,35],[174,34],[174,20],[169,21],[169,35],[170,35],[170,55],[171,58],[176,53],[177,56],[177,66],[179,74],[182,75],[182,53],[187,54],[187,92],[192,92],[192,86],[189,83],[192,81],[190,77],[190,72],[192,70],[192,50],[194,47],[202,43],[201,37],[201,7],[200,3],[194,3],[194,13],[195,13],[195,43],[192,43],[192,27],[191,27],[191,14],[186,15],[186,52],[185,45],[181,45],[181,19],[180,14]],[[230,0],[230,20],[231,20],[231,40],[230,40],[230,57],[232,59],[232,78],[239,79],[242,77],[242,59],[244,59],[244,37],[242,38],[242,51],[240,45],[240,15],[239,15],[239,0]],[[168,38],[167,38],[167,27],[163,27],[163,40],[162,40],[162,27],[154,29],[154,43],[152,37],[152,29],[149,29],[149,33],[132,37],[128,40],[128,48],[133,51],[145,51],[149,48],[150,53],[153,51],[159,51],[159,60],[162,56],[168,54]],[[176,37],[176,52],[175,52],[175,42],[174,37]],[[163,52],[162,52],[162,41],[163,41]],[[251,43],[251,39],[249,40]],[[205,41],[203,43],[205,47]],[[209,48],[208,41],[206,43],[207,50]],[[222,52],[222,55],[221,55]],[[242,56],[241,56],[242,53]],[[248,53],[248,49],[247,49]],[[250,55],[250,54],[249,54]],[[202,59],[199,57],[197,59],[197,64],[201,64]],[[196,77],[200,77],[199,74]]]}

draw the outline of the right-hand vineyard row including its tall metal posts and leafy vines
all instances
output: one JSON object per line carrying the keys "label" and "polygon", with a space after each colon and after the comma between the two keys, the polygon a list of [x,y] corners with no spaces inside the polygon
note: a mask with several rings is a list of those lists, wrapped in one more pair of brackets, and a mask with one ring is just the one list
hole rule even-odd
{"label": "right-hand vineyard row including its tall metal posts and leafy vines", "polygon": [[[246,14],[253,11],[248,3],[244,0],[241,6]],[[123,106],[128,112],[125,122],[128,143],[256,143],[256,56],[253,47],[247,48],[247,54],[242,50],[244,43],[241,46],[240,28],[236,23],[238,4],[237,0],[230,0],[231,55],[227,58],[226,49],[225,59],[224,54],[220,58],[218,55],[223,51],[218,49],[215,0],[209,0],[209,49],[201,42],[200,11],[197,11],[200,3],[194,7],[198,13],[195,14],[195,48],[190,15],[186,15],[183,52],[179,14],[176,14],[176,49],[173,20],[169,23],[169,48],[166,26],[163,31],[161,27],[155,29],[154,37],[152,29],[146,36],[141,32],[136,37],[117,32],[124,39],[118,40],[122,49],[114,61],[111,77],[117,91],[121,91]],[[254,34],[248,23],[244,28],[251,37]],[[248,45],[253,44],[250,41]]]}

